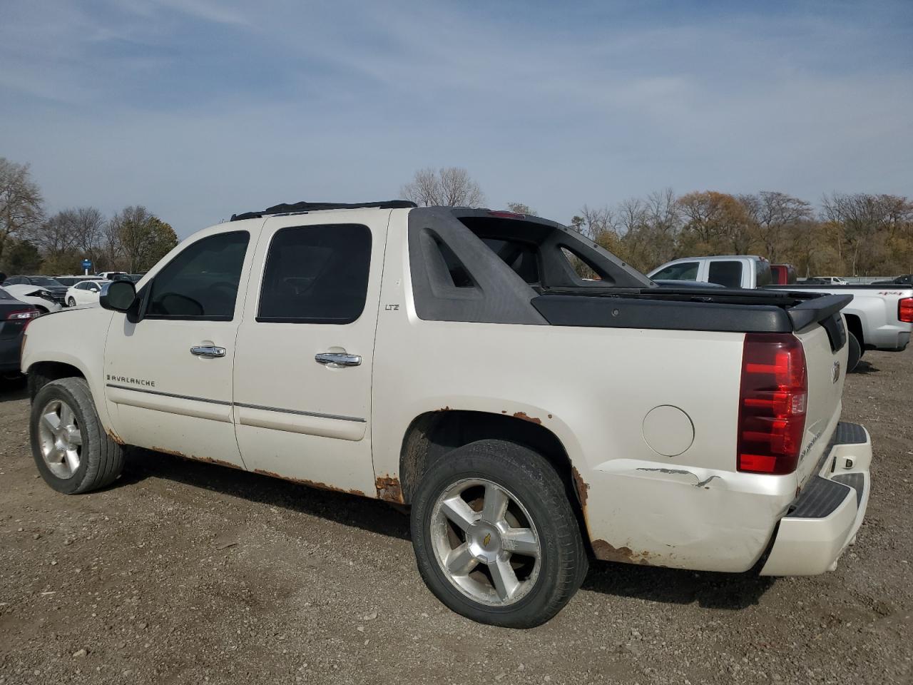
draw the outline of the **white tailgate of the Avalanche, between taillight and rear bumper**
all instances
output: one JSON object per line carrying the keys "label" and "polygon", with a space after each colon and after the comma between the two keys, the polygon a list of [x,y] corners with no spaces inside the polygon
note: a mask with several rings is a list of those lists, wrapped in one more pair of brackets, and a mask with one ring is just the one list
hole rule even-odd
{"label": "white tailgate of the Avalanche, between taillight and rear bumper", "polygon": [[805,434],[796,469],[800,486],[817,473],[840,419],[848,353],[845,331],[846,321],[838,313],[795,333],[803,345],[808,376]]}

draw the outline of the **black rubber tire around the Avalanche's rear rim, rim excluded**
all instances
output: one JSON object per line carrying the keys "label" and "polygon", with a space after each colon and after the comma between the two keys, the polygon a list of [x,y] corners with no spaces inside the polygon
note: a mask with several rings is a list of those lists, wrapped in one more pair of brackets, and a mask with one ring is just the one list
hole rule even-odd
{"label": "black rubber tire around the Avalanche's rear rim, rim excluded", "polygon": [[[466,479],[485,479],[508,490],[529,513],[538,533],[538,576],[530,581],[526,594],[508,606],[474,600],[438,561],[432,537],[436,502]],[[530,448],[504,440],[479,440],[456,448],[428,467],[412,505],[415,560],[425,585],[450,609],[474,621],[501,627],[539,626],[570,601],[586,575],[586,550],[561,477]]]}

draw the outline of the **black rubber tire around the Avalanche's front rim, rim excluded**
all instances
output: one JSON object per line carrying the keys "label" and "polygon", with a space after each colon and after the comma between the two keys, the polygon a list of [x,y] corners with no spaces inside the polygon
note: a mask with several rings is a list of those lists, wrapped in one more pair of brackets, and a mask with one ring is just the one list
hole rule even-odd
{"label": "black rubber tire around the Avalanche's front rim, rim excluded", "polygon": [[[66,478],[51,472],[42,456],[39,422],[42,411],[54,401],[66,403],[75,416],[74,425],[79,427],[81,447],[79,467]],[[123,448],[112,440],[101,426],[95,403],[89,392],[89,385],[82,378],[61,378],[42,387],[32,401],[29,421],[29,435],[32,441],[32,456],[41,477],[54,490],[75,495],[98,490],[110,485],[123,469]]]}

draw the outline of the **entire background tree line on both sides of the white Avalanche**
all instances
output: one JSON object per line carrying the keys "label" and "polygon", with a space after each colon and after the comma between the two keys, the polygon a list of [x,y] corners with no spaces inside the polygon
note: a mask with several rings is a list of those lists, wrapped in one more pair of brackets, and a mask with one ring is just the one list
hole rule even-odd
{"label": "entire background tree line on both sides of the white Avalanche", "polygon": [[[481,206],[486,196],[466,169],[426,168],[401,195],[418,205]],[[535,215],[523,203],[508,203]],[[583,205],[570,226],[641,271],[670,259],[759,254],[800,276],[913,272],[913,202],[902,195],[833,193],[818,207],[782,192],[730,195],[670,188],[614,205]],[[150,269],[177,245],[174,229],[141,205],[104,216],[95,207],[44,211],[27,164],[0,157],[0,269],[79,273]]]}

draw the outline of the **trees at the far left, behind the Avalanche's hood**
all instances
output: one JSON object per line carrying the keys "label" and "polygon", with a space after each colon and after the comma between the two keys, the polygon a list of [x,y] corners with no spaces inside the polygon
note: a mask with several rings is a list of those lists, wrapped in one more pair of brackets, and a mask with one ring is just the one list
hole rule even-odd
{"label": "trees at the far left, behind the Avalanche's hood", "polygon": [[0,269],[8,274],[137,273],[152,268],[177,245],[174,229],[142,205],[104,216],[95,207],[47,216],[44,197],[27,164],[0,157]]}

